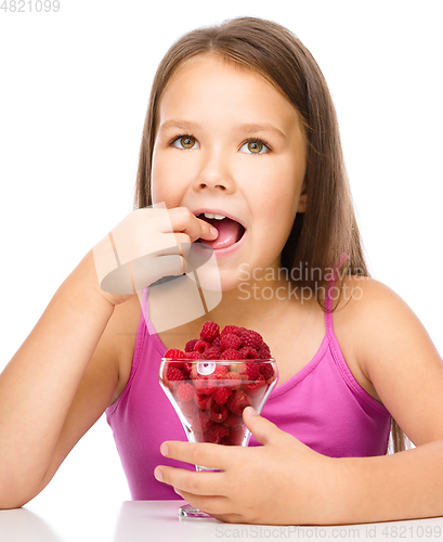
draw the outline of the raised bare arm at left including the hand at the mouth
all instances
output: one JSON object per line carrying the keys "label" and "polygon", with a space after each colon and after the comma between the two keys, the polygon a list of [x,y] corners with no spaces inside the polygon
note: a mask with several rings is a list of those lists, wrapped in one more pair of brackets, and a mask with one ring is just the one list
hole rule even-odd
{"label": "raised bare arm at left including the hand at the mouth", "polygon": [[[151,266],[133,268],[138,291],[165,274],[183,273],[177,243],[188,247],[199,237],[213,238],[210,224],[186,208],[139,209],[113,236],[120,261],[151,256]],[[115,259],[107,241],[62,284],[0,375],[0,508],[22,506],[38,494],[125,384],[120,367],[129,366],[133,352],[126,311],[139,300],[121,293],[118,282],[117,289],[101,289],[97,266],[107,268],[107,245]],[[128,356],[129,363],[121,363]]]}

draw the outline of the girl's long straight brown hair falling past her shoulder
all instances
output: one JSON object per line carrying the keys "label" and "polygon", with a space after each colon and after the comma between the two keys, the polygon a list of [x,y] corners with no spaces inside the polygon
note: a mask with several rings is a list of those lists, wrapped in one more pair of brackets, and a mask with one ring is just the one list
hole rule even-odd
{"label": "girl's long straight brown hair falling past her shoulder", "polygon": [[[282,267],[297,284],[315,292],[324,311],[331,268],[340,255],[340,296],[346,274],[370,276],[363,254],[351,191],[344,168],[337,115],[325,78],[301,41],[277,23],[238,17],[211,27],[197,28],[175,41],[160,62],[154,78],[143,129],[134,208],[152,204],[151,172],[159,100],[177,70],[204,54],[219,54],[252,69],[286,96],[299,112],[307,140],[308,207],[297,214],[282,251]],[[314,273],[315,271],[315,273]],[[335,299],[336,300],[336,299]],[[404,449],[403,433],[393,421],[394,451]]]}

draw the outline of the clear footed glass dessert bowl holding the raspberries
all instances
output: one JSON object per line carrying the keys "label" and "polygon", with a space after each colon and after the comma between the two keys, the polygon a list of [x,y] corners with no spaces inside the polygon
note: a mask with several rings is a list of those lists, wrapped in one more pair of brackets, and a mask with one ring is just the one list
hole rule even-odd
{"label": "clear footed glass dessert bowl holding the raspberries", "polygon": [[[200,360],[162,358],[160,386],[174,408],[190,442],[248,446],[243,410],[263,409],[278,378],[274,359]],[[208,470],[196,465],[197,470]],[[191,505],[179,515],[208,517]]]}

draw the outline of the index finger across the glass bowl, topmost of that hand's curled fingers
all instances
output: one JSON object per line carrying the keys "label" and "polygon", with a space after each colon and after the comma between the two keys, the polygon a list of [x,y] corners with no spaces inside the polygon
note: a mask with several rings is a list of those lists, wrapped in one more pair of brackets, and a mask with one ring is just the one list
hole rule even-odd
{"label": "index finger across the glass bowl, topmost of that hand's curled fingers", "polygon": [[221,470],[225,470],[229,465],[232,465],[235,455],[240,450],[244,449],[209,442],[182,442],[180,440],[169,440],[160,447],[160,452],[165,457]]}

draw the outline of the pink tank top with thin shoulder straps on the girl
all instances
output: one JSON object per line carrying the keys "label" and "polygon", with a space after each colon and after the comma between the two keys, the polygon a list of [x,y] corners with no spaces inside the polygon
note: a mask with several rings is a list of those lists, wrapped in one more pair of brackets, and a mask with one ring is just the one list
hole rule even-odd
{"label": "pink tank top with thin shoulder straps on the girl", "polygon": [[[326,308],[330,309],[330,292]],[[143,300],[147,314],[147,288]],[[385,455],[391,427],[388,410],[355,380],[337,337],[333,314],[325,313],[326,335],[314,358],[277,386],[262,416],[330,457]],[[152,323],[148,321],[148,325]],[[160,454],[165,440],[186,440],[184,429],[158,384],[166,347],[149,335],[143,313],[139,324],[132,370],[118,400],[106,410],[133,500],[180,499],[170,486],[154,478],[157,465],[194,469]],[[277,360],[278,363],[278,360]],[[251,437],[249,446],[260,446]]]}

